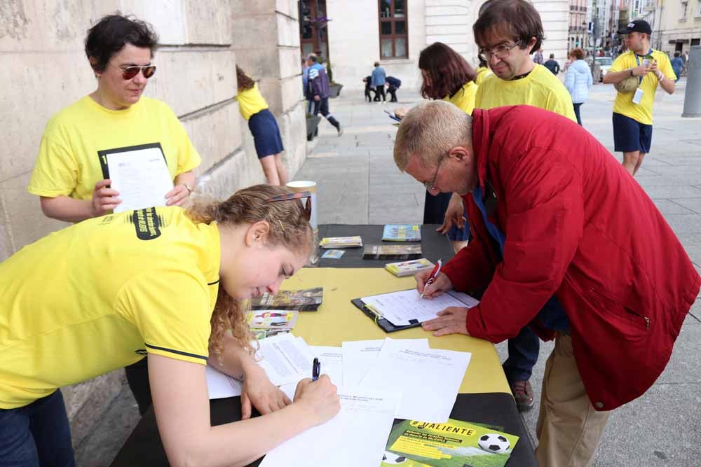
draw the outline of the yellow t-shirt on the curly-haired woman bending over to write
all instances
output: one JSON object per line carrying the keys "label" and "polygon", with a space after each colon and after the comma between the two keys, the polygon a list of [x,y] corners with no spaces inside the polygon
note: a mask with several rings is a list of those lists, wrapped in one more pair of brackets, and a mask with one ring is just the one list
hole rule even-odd
{"label": "yellow t-shirt on the curly-haired woman bending over to write", "polygon": [[0,408],[147,352],[205,364],[221,247],[179,207],[88,219],[0,263]]}

